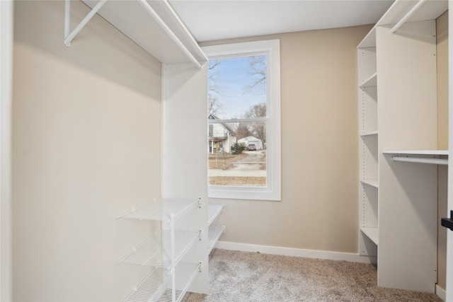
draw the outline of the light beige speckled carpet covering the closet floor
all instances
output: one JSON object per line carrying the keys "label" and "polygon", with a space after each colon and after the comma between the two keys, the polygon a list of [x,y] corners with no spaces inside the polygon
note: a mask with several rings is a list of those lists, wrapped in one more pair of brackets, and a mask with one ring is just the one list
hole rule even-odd
{"label": "light beige speckled carpet covering the closet floor", "polygon": [[442,301],[435,294],[377,287],[374,265],[213,250],[210,292],[184,302]]}

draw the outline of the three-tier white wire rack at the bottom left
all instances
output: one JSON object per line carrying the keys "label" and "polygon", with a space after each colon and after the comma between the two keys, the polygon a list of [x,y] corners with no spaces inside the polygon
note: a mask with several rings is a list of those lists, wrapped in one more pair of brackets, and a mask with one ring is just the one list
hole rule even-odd
{"label": "three-tier white wire rack at the bottom left", "polygon": [[125,301],[176,302],[183,298],[197,272],[201,272],[201,260],[190,262],[185,256],[201,240],[202,231],[178,221],[201,207],[200,199],[159,199],[117,216],[117,219],[161,221],[161,231],[134,247],[119,261],[153,267]]}

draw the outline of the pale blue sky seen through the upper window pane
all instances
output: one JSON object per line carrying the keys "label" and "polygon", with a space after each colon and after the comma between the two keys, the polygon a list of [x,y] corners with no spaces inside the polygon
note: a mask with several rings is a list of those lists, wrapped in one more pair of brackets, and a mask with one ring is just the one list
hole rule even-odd
{"label": "pale blue sky seen through the upper window pane", "polygon": [[250,78],[248,57],[222,59],[214,72],[216,85],[221,92],[218,95],[222,103],[222,111],[217,114],[219,118],[241,118],[252,105],[265,102],[265,95],[243,91],[243,86]]}

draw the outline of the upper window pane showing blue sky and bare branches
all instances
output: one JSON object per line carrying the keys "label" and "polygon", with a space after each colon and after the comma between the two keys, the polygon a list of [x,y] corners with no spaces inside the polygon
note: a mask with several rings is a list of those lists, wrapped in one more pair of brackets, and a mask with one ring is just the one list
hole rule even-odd
{"label": "upper window pane showing blue sky and bare branches", "polygon": [[267,85],[265,55],[210,61],[208,115],[222,120],[250,117],[253,106],[267,103]]}

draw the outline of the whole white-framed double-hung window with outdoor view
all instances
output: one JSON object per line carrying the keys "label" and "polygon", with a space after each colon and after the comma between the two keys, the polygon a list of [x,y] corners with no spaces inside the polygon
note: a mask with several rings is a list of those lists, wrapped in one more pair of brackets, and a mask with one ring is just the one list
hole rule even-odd
{"label": "whole white-framed double-hung window with outdoor view", "polygon": [[280,200],[280,40],[202,48],[209,197]]}

